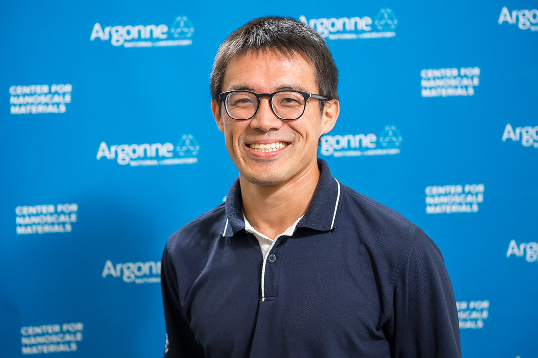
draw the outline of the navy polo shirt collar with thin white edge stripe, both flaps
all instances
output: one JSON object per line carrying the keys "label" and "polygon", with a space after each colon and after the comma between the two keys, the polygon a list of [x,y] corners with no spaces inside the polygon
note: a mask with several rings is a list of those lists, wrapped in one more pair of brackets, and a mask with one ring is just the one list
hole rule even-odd
{"label": "navy polo shirt collar with thin white edge stripe, both flaps", "polygon": [[[323,159],[317,160],[317,166],[321,171],[320,181],[317,183],[312,201],[297,227],[327,231],[335,228],[338,221],[340,183],[331,176],[329,166]],[[226,221],[222,231],[223,236],[235,235],[236,232],[245,228],[241,203],[239,178],[236,178],[228,190],[228,196],[226,196]]]}

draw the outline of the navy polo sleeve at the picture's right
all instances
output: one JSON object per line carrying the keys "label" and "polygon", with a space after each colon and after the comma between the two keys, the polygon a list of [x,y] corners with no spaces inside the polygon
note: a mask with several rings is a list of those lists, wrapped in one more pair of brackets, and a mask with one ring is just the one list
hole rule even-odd
{"label": "navy polo sleeve at the picture's right", "polygon": [[454,290],[443,256],[420,228],[394,278],[393,357],[461,357]]}

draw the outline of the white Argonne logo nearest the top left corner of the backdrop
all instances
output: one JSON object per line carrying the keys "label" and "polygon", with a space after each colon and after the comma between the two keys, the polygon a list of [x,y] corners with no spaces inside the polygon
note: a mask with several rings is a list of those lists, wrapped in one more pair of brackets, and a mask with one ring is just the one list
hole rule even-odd
{"label": "white Argonne logo nearest the top left corner of the backdrop", "polygon": [[[168,32],[173,40],[168,39]],[[194,26],[187,16],[175,18],[172,27],[161,25],[137,25],[137,26],[105,26],[103,29],[99,23],[95,23],[91,31],[90,41],[100,39],[108,41],[112,46],[123,47],[169,47],[187,46],[193,41],[190,39],[194,33]]]}

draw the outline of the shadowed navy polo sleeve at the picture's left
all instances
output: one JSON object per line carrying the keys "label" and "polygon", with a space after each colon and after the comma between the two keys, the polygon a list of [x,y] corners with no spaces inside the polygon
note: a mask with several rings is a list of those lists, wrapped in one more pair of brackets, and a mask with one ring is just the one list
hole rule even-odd
{"label": "shadowed navy polo sleeve at the picture's left", "polygon": [[161,261],[162,303],[166,321],[165,358],[204,357],[203,347],[183,314],[178,296],[178,276],[167,248]]}

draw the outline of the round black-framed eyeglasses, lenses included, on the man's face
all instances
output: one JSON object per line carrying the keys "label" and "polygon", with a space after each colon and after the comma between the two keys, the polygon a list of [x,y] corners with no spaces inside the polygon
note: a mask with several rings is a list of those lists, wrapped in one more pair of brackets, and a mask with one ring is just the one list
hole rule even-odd
{"label": "round black-framed eyeglasses, lenses included, on the man's face", "polygon": [[224,101],[226,113],[235,120],[247,120],[256,114],[260,97],[269,97],[271,110],[280,119],[295,120],[305,113],[308,99],[325,99],[305,91],[281,90],[273,93],[256,93],[245,90],[222,92],[219,97]]}

